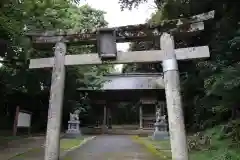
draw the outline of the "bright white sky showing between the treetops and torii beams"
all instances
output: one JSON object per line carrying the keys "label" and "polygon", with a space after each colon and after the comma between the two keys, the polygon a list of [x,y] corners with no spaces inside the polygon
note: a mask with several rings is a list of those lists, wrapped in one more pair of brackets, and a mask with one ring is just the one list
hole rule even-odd
{"label": "bright white sky showing between the treetops and torii beams", "polygon": [[[81,5],[88,4],[93,8],[105,11],[105,20],[109,23],[108,27],[116,27],[145,23],[155,11],[153,1],[149,0],[131,11],[128,9],[121,11],[118,0],[83,0]],[[117,44],[118,50],[127,51],[128,48],[129,43]],[[120,71],[122,65],[116,65],[115,68]]]}

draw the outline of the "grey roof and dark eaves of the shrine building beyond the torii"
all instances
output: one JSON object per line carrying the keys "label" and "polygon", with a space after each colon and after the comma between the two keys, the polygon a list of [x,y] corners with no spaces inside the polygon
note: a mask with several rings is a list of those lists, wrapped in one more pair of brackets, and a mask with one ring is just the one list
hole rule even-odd
{"label": "grey roof and dark eaves of the shrine building beyond the torii", "polygon": [[141,98],[164,99],[164,82],[161,73],[109,74],[98,89],[78,89],[88,93],[93,103],[133,102]]}

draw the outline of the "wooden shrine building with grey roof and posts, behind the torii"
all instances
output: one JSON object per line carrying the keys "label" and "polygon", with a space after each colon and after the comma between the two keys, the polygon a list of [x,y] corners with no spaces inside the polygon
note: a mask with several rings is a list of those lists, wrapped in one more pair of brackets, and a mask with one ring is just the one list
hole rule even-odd
{"label": "wooden shrine building with grey roof and posts, behind the torii", "polygon": [[[103,125],[109,124],[111,108],[120,102],[139,104],[139,128],[153,129],[156,108],[165,104],[164,82],[161,73],[109,74],[104,76],[98,90],[78,89],[87,93],[92,105],[103,107]],[[158,84],[156,84],[156,81]],[[111,117],[114,118],[114,117]]]}

